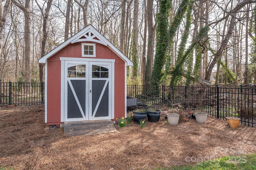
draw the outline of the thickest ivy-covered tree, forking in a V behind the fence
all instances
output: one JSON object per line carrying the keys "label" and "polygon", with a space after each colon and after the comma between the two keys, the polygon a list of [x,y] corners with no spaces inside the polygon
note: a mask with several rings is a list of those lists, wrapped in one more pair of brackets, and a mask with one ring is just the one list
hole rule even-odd
{"label": "thickest ivy-covered tree, forking in a V behind the fence", "polygon": [[166,62],[166,54],[170,43],[173,41],[174,36],[184,14],[187,10],[190,0],[182,0],[178,10],[170,23],[168,28],[168,16],[171,9],[170,0],[162,0],[159,2],[159,13],[156,16],[157,28],[156,28],[156,55],[154,58],[153,70],[150,79],[150,84],[159,85],[162,78],[162,69]]}

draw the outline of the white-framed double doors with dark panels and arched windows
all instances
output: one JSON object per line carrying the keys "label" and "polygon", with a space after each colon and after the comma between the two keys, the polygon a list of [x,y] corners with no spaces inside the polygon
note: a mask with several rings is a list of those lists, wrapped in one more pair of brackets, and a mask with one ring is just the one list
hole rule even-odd
{"label": "white-framed double doors with dark panels and arched windows", "polygon": [[111,119],[111,63],[65,61],[65,121]]}

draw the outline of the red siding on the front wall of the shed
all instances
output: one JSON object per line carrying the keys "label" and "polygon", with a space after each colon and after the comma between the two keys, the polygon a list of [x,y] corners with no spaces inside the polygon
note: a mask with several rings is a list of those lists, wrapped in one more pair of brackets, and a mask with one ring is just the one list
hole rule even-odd
{"label": "red siding on the front wall of the shed", "polygon": [[[69,44],[61,51],[53,55],[47,60],[47,122],[48,125],[60,123],[60,87],[61,87],[61,62],[60,57],[77,57],[77,58],[95,58],[81,57],[81,43]],[[124,117],[125,113],[125,63],[113,51],[105,45],[96,43],[96,58],[97,59],[115,59],[115,118]],[[60,123],[61,124],[61,123]]]}

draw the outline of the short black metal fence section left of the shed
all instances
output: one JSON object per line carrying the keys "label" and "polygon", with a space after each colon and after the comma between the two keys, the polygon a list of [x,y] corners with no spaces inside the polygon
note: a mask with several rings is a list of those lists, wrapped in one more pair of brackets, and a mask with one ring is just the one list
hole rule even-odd
{"label": "short black metal fence section left of the shed", "polygon": [[0,105],[43,105],[44,82],[0,83]]}

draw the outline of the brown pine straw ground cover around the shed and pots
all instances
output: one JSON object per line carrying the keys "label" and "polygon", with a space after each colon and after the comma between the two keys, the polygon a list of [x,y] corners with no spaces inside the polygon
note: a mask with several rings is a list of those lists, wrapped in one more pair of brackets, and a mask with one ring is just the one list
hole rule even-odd
{"label": "brown pine straw ground cover around the shed and pots", "polygon": [[43,107],[0,107],[0,168],[154,169],[256,153],[255,128],[231,129],[212,117],[174,126],[165,115],[143,129],[132,122],[116,133],[67,136],[46,128]]}

